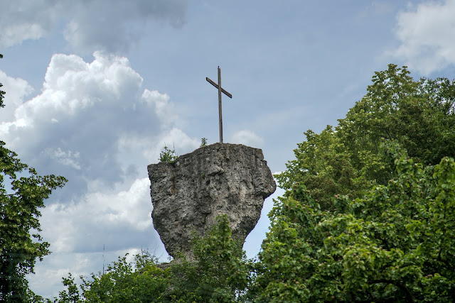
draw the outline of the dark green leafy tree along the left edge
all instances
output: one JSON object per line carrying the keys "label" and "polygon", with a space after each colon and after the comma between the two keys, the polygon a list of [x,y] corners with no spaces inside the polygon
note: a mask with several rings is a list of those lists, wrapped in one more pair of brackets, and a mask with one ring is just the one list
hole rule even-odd
{"label": "dark green leafy tree along the left edge", "polygon": [[[0,92],[1,107],[4,94]],[[49,243],[39,235],[39,209],[52,190],[63,187],[66,180],[39,176],[5,144],[0,141],[0,301],[25,302],[33,296],[25,276],[33,272],[37,258],[43,260],[50,253]]]}

